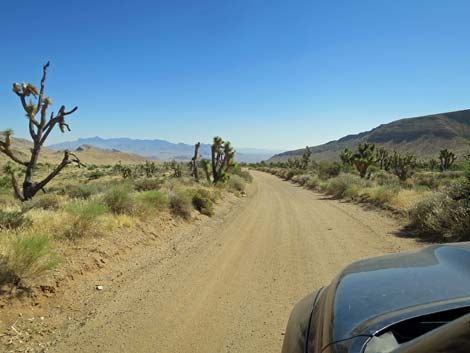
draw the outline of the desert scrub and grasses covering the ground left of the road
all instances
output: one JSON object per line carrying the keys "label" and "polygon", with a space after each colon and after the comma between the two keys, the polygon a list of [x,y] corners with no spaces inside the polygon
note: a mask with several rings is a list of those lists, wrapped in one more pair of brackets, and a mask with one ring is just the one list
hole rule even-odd
{"label": "desert scrub and grasses covering the ground left of the road", "polygon": [[[11,134],[0,136],[13,141]],[[41,189],[44,192],[31,197],[15,197],[11,192],[15,178],[26,169],[4,164],[0,169],[0,285],[33,285],[32,279],[58,265],[55,245],[64,251],[93,237],[111,236],[116,227],[157,217],[190,220],[194,211],[212,216],[216,200],[227,192],[242,193],[251,181],[250,173],[235,163],[229,142],[215,138],[213,150],[214,161],[207,161],[207,168],[196,147],[190,164],[119,162],[65,169],[49,178]],[[33,169],[35,177],[44,179],[56,167],[36,163]]]}

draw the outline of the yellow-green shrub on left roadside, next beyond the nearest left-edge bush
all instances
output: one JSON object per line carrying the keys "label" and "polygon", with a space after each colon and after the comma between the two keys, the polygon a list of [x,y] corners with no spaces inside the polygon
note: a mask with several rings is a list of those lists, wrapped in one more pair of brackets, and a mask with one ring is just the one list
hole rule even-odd
{"label": "yellow-green shrub on left roadside, next beyond the nearest left-edge bush", "polygon": [[66,211],[69,217],[60,231],[63,237],[74,240],[100,235],[99,217],[109,212],[109,208],[100,201],[77,201],[69,204]]}

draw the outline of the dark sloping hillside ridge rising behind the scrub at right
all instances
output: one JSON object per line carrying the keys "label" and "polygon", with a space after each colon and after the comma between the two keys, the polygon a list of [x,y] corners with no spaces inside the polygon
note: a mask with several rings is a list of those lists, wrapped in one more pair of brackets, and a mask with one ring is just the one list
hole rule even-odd
{"label": "dark sloping hillside ridge rising behind the scrub at right", "polygon": [[[370,131],[312,147],[311,150],[315,159],[333,160],[339,158],[343,149],[354,149],[359,143],[366,141],[420,157],[437,156],[443,148],[457,154],[469,153],[470,110],[396,120]],[[305,148],[283,152],[269,161],[297,158],[304,150]]]}

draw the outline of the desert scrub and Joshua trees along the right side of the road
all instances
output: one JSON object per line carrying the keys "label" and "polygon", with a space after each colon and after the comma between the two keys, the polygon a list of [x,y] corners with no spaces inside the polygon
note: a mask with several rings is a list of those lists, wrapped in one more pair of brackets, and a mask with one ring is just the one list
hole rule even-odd
{"label": "desert scrub and Joshua trees along the right side of the road", "polygon": [[[409,217],[418,236],[441,241],[470,240],[470,153],[444,149],[419,160],[370,143],[345,149],[337,161],[301,158],[252,167],[334,198],[368,202]],[[460,163],[459,163],[460,161]]]}

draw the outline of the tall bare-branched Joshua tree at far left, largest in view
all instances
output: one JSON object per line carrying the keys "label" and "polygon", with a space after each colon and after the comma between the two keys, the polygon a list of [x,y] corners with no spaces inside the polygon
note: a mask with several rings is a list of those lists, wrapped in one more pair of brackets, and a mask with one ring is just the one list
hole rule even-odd
{"label": "tall bare-branched Joshua tree at far left, largest in view", "polygon": [[[69,125],[65,122],[65,117],[74,113],[78,109],[78,107],[75,107],[72,110],[66,111],[65,106],[62,105],[59,108],[57,114],[51,113],[49,118],[47,117],[47,109],[52,104],[52,100],[44,94],[44,86],[48,67],[49,62],[43,66],[41,86],[39,91],[31,83],[13,84],[13,92],[19,97],[21,105],[26,112],[26,117],[28,118],[29,123],[29,134],[33,140],[33,147],[31,148],[31,156],[29,160],[23,160],[12,150],[12,130],[6,130],[3,133],[4,141],[0,141],[0,152],[7,155],[16,164],[25,168],[22,190],[18,185],[14,169],[9,168],[9,174],[15,196],[21,201],[32,199],[39,190],[44,191],[44,187],[67,165],[71,163],[76,163],[78,166],[83,165],[77,156],[66,150],[64,151],[62,162],[60,162],[48,176],[46,176],[40,182],[36,183],[33,181],[33,172],[38,163],[38,158],[44,142],[46,142],[49,134],[56,126],[59,127],[62,133],[65,132],[65,130],[70,131]],[[28,98],[29,100],[27,101]]]}

